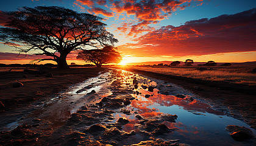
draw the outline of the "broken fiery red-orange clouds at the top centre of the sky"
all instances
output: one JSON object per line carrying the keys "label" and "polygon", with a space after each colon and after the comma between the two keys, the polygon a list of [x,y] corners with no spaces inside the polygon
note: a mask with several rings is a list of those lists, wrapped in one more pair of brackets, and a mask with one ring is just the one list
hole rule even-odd
{"label": "broken fiery red-orange clouds at the top centre of the sky", "polygon": [[[152,30],[149,27],[149,24],[156,24],[159,21],[165,19],[172,12],[176,10],[183,10],[185,7],[190,6],[191,0],[123,0],[123,1],[113,1],[113,0],[76,0],[79,4],[87,5],[92,9],[88,10],[89,13],[102,14],[104,16],[113,17],[114,13],[116,18],[121,15],[121,13],[125,13],[126,15],[135,15],[138,20],[138,24],[135,24],[131,29],[121,26],[118,30],[121,32],[126,32],[128,36],[137,37],[138,34],[142,32],[148,32]],[[202,0],[193,0],[194,1],[202,1]],[[98,4],[98,6],[97,6]],[[110,8],[113,12],[109,12],[99,7],[99,5],[105,5],[105,7]],[[84,8],[84,7],[82,7]],[[122,18],[125,19],[125,18]],[[142,26],[141,24],[147,23],[146,26]]]}

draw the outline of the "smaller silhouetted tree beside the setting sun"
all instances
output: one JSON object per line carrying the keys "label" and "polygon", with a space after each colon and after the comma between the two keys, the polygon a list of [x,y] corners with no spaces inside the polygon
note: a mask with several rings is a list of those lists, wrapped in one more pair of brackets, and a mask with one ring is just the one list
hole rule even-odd
{"label": "smaller silhouetted tree beside the setting sun", "polygon": [[119,63],[122,60],[116,47],[105,46],[102,49],[82,50],[77,55],[77,59],[94,63],[97,68],[101,68],[102,64]]}

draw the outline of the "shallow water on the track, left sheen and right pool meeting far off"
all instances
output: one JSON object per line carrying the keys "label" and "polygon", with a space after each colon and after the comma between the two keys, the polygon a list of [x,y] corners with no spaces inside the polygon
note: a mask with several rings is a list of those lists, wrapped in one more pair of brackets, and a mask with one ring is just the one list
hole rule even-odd
{"label": "shallow water on the track, left sheen and right pool meeting far off", "polygon": [[[138,85],[137,89],[135,89],[135,84]],[[152,92],[148,91],[149,86],[154,86]],[[96,93],[92,93],[93,91]],[[162,122],[172,131],[159,134],[156,137],[170,140],[179,139],[180,142],[190,145],[243,145],[241,142],[234,141],[225,128],[227,125],[249,128],[246,123],[228,117],[221,111],[216,111],[206,103],[200,102],[196,95],[178,85],[132,72],[114,70],[71,86],[66,91],[60,92],[58,96],[51,97],[43,103],[34,103],[31,107],[33,110],[30,110],[32,113],[24,114],[23,120],[20,120],[21,116],[19,116],[16,120],[5,122],[5,125],[1,123],[1,130],[13,130],[18,125],[29,123],[32,119],[41,119],[43,120],[41,123],[52,123],[47,126],[48,129],[61,127],[71,117],[71,114],[76,113],[82,106],[95,105],[101,102],[103,97],[110,96],[132,96],[135,98],[131,100],[129,106],[125,107],[129,111],[127,114],[122,113],[121,109],[115,109],[116,113],[113,113],[115,119],[100,122],[115,123],[119,117],[129,119],[130,123],[123,125],[122,130],[126,132],[134,130],[136,134],[121,140],[119,145],[137,144],[140,141],[149,140],[149,136],[140,133],[138,127],[141,123],[137,115],[151,118],[162,114],[176,114],[176,122]],[[14,116],[13,114],[12,118]],[[2,116],[1,119],[4,120],[7,117]],[[73,127],[75,129],[75,126]],[[44,127],[40,125],[40,128]],[[79,128],[76,130],[79,131]],[[83,127],[83,130],[85,128],[87,127]],[[250,129],[255,133],[254,129]]]}

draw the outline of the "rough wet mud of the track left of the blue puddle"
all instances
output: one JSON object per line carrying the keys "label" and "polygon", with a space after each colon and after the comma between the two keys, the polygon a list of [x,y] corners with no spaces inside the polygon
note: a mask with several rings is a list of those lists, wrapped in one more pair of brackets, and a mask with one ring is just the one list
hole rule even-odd
{"label": "rough wet mud of the track left of the blue puddle", "polygon": [[[17,123],[13,122],[13,128],[10,124],[3,127],[4,121],[1,122],[0,145],[130,145],[134,142],[127,139],[135,134],[142,135],[145,140],[135,145],[186,145],[175,139],[158,138],[173,130],[163,122],[175,122],[176,115],[160,113],[144,117],[138,110],[126,109],[132,100],[138,100],[131,96],[135,94],[133,85],[138,79],[129,77],[124,80],[121,73],[101,72],[100,77],[87,80],[90,84],[82,83],[82,88],[76,89],[75,85],[72,91],[38,100],[27,109],[9,109],[1,113],[5,114],[1,115],[2,120],[8,120],[8,113],[10,117],[15,112],[22,116]],[[98,90],[97,86],[101,89]],[[106,87],[111,94],[105,92]],[[115,113],[134,114],[138,119],[137,129],[123,131],[123,125],[130,121],[125,117],[115,117]]]}

